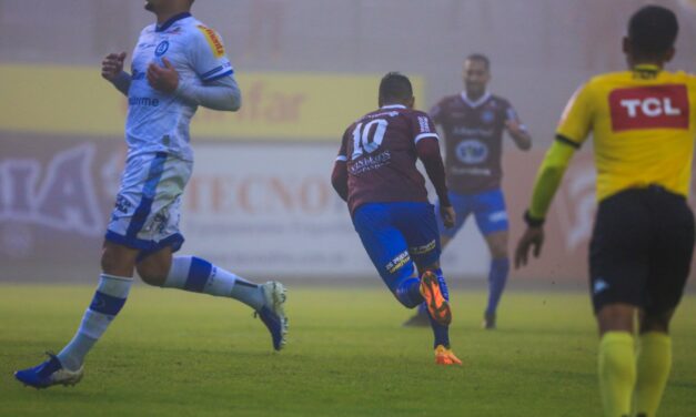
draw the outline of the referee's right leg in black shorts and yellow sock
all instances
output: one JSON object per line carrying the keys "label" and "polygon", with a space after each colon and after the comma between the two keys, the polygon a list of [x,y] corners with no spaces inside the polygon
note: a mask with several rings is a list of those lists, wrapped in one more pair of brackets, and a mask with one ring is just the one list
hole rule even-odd
{"label": "referee's right leg in black shorts and yellow sock", "polygon": [[684,199],[657,194],[659,227],[653,242],[647,302],[640,315],[635,413],[656,415],[672,368],[669,322],[682,299],[694,252],[694,216]]}

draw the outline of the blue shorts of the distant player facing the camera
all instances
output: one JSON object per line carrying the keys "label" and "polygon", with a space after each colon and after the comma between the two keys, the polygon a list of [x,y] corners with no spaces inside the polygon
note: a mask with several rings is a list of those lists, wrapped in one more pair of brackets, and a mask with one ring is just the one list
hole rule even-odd
{"label": "blue shorts of the distant player facing the camera", "polygon": [[[456,212],[456,223],[452,228],[445,228],[440,216],[437,217],[437,226],[443,236],[450,238],[462,228],[466,217],[474,213],[476,225],[481,234],[487,236],[495,232],[504,232],[510,228],[507,223],[507,210],[505,208],[505,197],[501,189],[486,191],[478,194],[458,194],[450,192],[450,201]],[[437,211],[440,212],[440,202],[437,202]]]}

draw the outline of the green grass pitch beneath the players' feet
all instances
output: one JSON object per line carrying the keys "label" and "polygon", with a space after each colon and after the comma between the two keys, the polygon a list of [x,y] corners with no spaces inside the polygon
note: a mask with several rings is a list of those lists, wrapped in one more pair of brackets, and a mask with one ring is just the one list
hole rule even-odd
{"label": "green grass pitch beneath the players' feet", "polygon": [[[485,295],[453,292],[455,353],[437,367],[431,330],[380,287],[291,288],[290,343],[229,299],[139,285],[74,388],[34,390],[12,372],[58,350],[93,287],[0,285],[0,416],[598,416],[597,337],[584,293],[508,293],[500,329]],[[660,417],[696,409],[696,297],[673,325]]]}

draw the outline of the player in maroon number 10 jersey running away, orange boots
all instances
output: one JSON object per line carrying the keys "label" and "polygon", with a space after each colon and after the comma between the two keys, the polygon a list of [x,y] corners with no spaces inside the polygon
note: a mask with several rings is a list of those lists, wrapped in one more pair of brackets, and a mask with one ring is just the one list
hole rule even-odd
{"label": "player in maroon number 10 jersey running away, orange boots", "polygon": [[435,186],[443,222],[450,227],[454,210],[435,126],[426,113],[413,110],[413,103],[408,79],[386,74],[380,84],[380,109],[344,133],[332,183],[347,202],[355,231],[396,299],[408,308],[425,302],[436,363],[461,364],[450,349],[452,312],[440,268],[440,234],[416,160]]}

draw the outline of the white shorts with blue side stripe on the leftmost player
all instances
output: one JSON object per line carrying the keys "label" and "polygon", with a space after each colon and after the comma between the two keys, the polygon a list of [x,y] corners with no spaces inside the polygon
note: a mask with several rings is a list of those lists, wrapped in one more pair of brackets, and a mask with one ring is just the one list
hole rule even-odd
{"label": "white shorts with blue side stripe on the leftmost player", "polygon": [[164,152],[129,157],[107,241],[142,251],[141,258],[167,246],[178,251],[184,241],[181,195],[192,169],[192,162]]}

